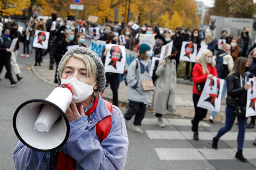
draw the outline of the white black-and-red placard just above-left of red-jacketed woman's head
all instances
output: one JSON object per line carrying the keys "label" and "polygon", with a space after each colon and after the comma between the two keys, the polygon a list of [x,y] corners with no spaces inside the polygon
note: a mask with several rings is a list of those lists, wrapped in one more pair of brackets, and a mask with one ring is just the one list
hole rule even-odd
{"label": "white black-and-red placard just above-left of red-jacketed woman's head", "polygon": [[188,41],[182,42],[182,48],[180,50],[180,60],[195,63],[196,54],[197,44],[192,44]]}

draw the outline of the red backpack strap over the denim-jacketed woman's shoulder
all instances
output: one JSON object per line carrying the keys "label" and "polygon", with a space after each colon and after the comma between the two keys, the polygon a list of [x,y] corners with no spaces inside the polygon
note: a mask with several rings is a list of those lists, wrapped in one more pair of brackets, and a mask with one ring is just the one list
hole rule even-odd
{"label": "red backpack strap over the denim-jacketed woman's shoulder", "polygon": [[112,112],[113,112],[113,105],[112,103],[104,100],[107,105],[107,109],[111,113],[110,116],[104,117],[101,121],[99,121],[96,125],[96,135],[98,136],[100,143],[107,138],[109,134],[111,123],[112,123]]}

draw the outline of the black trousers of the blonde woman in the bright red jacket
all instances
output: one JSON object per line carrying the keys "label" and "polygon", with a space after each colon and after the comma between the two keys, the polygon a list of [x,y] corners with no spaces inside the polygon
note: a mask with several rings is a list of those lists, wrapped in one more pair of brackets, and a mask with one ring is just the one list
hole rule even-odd
{"label": "black trousers of the blonde woman in the bright red jacket", "polygon": [[206,117],[206,114],[207,114],[207,109],[197,107],[199,98],[200,98],[200,95],[193,93],[193,102],[194,102],[194,107],[195,107],[195,116],[194,116],[194,119],[192,120],[193,121],[193,126],[192,126],[193,132],[198,132],[198,123],[199,123],[199,121],[204,119],[204,117]]}

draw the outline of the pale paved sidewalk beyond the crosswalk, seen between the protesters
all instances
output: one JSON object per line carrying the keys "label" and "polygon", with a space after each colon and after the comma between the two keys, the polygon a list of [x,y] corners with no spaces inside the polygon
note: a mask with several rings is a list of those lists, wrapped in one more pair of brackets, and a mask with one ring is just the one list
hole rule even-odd
{"label": "pale paved sidewalk beyond the crosswalk, seen between the protesters", "polygon": [[[57,83],[54,83],[54,74],[55,74],[55,65],[54,70],[49,70],[50,60],[43,60],[43,63],[41,63],[42,66],[33,66],[31,65],[32,71],[35,73],[36,76],[41,78],[47,83],[50,83],[52,85],[57,86]],[[110,88],[107,88],[104,90],[103,93],[104,99],[107,99],[109,101],[112,100],[112,91]],[[150,93],[150,101],[152,101],[153,92]],[[119,84],[118,89],[118,100],[119,103],[123,105],[128,105],[128,99],[127,99],[127,87],[124,82],[121,82]],[[175,96],[175,105],[176,110],[175,114],[178,116],[184,116],[184,117],[194,117],[194,103],[192,99],[192,82],[189,80],[183,80],[182,78],[177,78],[177,91]],[[222,100],[222,104],[220,107],[220,112],[218,112],[215,116],[215,120],[218,122],[225,122],[225,98]],[[151,107],[147,107],[147,110],[153,110]],[[208,110],[208,114],[206,116],[206,120],[209,118],[210,111]]]}

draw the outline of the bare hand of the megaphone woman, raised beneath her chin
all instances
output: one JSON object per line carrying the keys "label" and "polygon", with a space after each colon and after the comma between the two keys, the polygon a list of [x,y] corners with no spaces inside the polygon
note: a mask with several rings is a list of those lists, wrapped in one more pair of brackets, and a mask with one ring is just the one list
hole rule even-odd
{"label": "bare hand of the megaphone woman, raised beneath her chin", "polygon": [[76,120],[77,118],[79,118],[81,116],[85,116],[85,110],[83,109],[83,105],[81,105],[80,106],[80,113],[79,113],[78,109],[76,108],[76,104],[75,104],[74,100],[72,100],[71,104],[67,108],[67,111],[66,111],[65,114],[66,114],[67,119],[70,123],[70,122]]}

